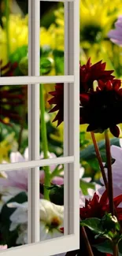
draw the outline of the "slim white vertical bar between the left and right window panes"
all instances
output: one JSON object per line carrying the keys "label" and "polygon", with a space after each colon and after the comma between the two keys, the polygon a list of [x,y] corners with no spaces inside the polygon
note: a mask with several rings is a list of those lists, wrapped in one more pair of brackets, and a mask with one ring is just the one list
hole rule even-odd
{"label": "slim white vertical bar between the left and right window panes", "polygon": [[[39,76],[40,2],[28,1],[28,75]],[[39,160],[39,83],[28,85],[28,158]],[[40,241],[39,166],[28,172],[28,243]]]}

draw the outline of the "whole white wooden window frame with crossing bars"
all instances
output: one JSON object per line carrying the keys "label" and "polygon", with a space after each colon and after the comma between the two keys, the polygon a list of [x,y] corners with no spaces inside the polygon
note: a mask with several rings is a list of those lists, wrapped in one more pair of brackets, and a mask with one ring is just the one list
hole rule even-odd
{"label": "whole white wooden window frame with crossing bars", "polygon": [[[28,173],[28,245],[0,250],[1,256],[50,256],[79,249],[79,0],[61,0],[65,2],[64,76],[39,76],[39,6],[42,1],[28,0],[28,76],[0,77],[1,85],[28,84],[29,148],[28,161],[2,164],[0,171],[31,168]],[[39,160],[39,83],[65,83],[64,157],[61,158]],[[39,242],[39,166],[52,164],[65,164],[65,236]]]}

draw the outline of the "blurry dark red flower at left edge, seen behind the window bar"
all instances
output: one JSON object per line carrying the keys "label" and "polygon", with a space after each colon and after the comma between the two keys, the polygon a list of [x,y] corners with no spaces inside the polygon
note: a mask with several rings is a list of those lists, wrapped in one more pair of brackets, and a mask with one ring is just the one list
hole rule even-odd
{"label": "blurry dark red flower at left edge, seen behind the window bar", "polygon": [[[17,69],[17,62],[7,63],[2,65],[2,60],[0,61],[0,71],[2,76],[13,76],[14,71]],[[2,124],[9,124],[11,121],[20,121],[20,113],[17,111],[17,106],[22,106],[24,104],[26,97],[25,87],[22,86],[0,86],[0,122]],[[8,118],[6,122],[5,118]]]}

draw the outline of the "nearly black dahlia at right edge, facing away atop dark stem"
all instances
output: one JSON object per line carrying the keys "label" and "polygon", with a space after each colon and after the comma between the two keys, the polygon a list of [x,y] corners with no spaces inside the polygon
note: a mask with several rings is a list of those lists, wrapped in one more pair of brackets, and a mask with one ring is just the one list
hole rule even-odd
{"label": "nearly black dahlia at right edge, facing away atop dark stem", "polygon": [[122,88],[120,80],[98,81],[96,91],[80,95],[80,124],[89,124],[87,132],[104,132],[109,128],[116,137],[120,130],[116,124],[122,123]]}

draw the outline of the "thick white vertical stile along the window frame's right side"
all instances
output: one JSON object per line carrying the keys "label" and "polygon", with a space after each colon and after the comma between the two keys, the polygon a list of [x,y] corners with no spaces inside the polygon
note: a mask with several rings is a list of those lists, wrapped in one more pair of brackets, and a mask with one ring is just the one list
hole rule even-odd
{"label": "thick white vertical stile along the window frame's right side", "polygon": [[[74,163],[65,165],[65,234],[79,240],[79,2],[65,2],[65,75],[74,75],[74,83],[65,83],[65,156],[74,155]],[[67,104],[67,105],[66,105]]]}

